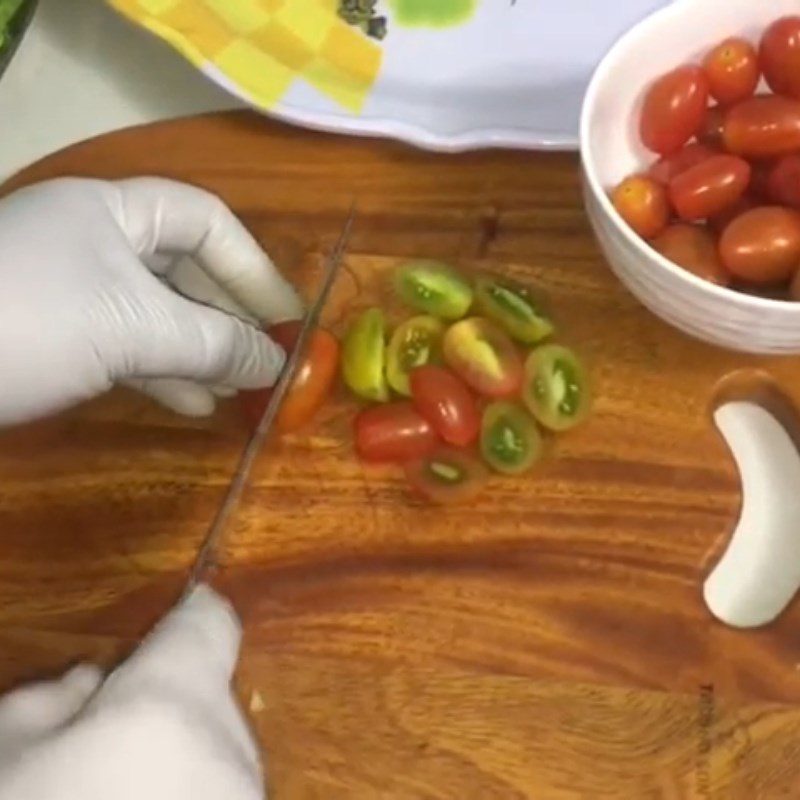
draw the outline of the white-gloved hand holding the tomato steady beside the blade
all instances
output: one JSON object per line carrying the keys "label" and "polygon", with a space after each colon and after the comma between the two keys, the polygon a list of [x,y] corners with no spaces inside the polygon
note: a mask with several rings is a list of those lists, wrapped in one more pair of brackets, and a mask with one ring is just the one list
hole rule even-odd
{"label": "white-gloved hand holding the tomato steady beside the blade", "polygon": [[254,325],[167,281],[190,255],[228,307],[302,314],[294,290],[214,195],[159,178],[60,179],[0,201],[0,425],[127,383],[187,414],[275,381],[285,354]]}

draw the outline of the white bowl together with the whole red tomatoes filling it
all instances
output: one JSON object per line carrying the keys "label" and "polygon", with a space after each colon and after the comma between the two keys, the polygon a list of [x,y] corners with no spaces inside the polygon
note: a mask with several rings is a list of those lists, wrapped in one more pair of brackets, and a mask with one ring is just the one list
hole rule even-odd
{"label": "white bowl together with the whole red tomatoes filling it", "polygon": [[614,273],[685,333],[800,353],[800,6],[678,0],[584,101],[589,220]]}

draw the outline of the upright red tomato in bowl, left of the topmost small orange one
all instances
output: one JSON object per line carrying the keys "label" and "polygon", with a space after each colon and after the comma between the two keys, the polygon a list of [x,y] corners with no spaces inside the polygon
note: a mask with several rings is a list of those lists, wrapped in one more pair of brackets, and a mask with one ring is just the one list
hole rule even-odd
{"label": "upright red tomato in bowl, left of the topmost small orange one", "polygon": [[687,65],[662,75],[644,98],[639,124],[644,146],[661,155],[680,150],[700,129],[708,92],[701,67]]}

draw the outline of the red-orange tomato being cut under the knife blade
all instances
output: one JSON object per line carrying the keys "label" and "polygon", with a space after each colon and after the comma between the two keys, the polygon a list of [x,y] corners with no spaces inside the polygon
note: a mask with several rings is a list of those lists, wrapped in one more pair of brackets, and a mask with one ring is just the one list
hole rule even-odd
{"label": "red-orange tomato being cut under the knife blade", "polygon": [[[267,333],[290,353],[301,328],[301,322],[283,322],[273,325]],[[312,331],[292,385],[275,418],[276,430],[291,433],[312,419],[329,397],[338,367],[339,342],[322,328]],[[251,427],[258,425],[272,393],[272,388],[239,393],[242,413]]]}

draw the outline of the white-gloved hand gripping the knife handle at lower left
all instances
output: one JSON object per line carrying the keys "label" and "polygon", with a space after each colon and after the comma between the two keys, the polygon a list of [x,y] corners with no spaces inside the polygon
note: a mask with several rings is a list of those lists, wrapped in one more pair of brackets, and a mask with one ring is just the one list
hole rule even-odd
{"label": "white-gloved hand gripping the knife handle at lower left", "polygon": [[103,682],[80,666],[0,699],[0,800],[259,800],[230,688],[239,623],[200,587]]}

